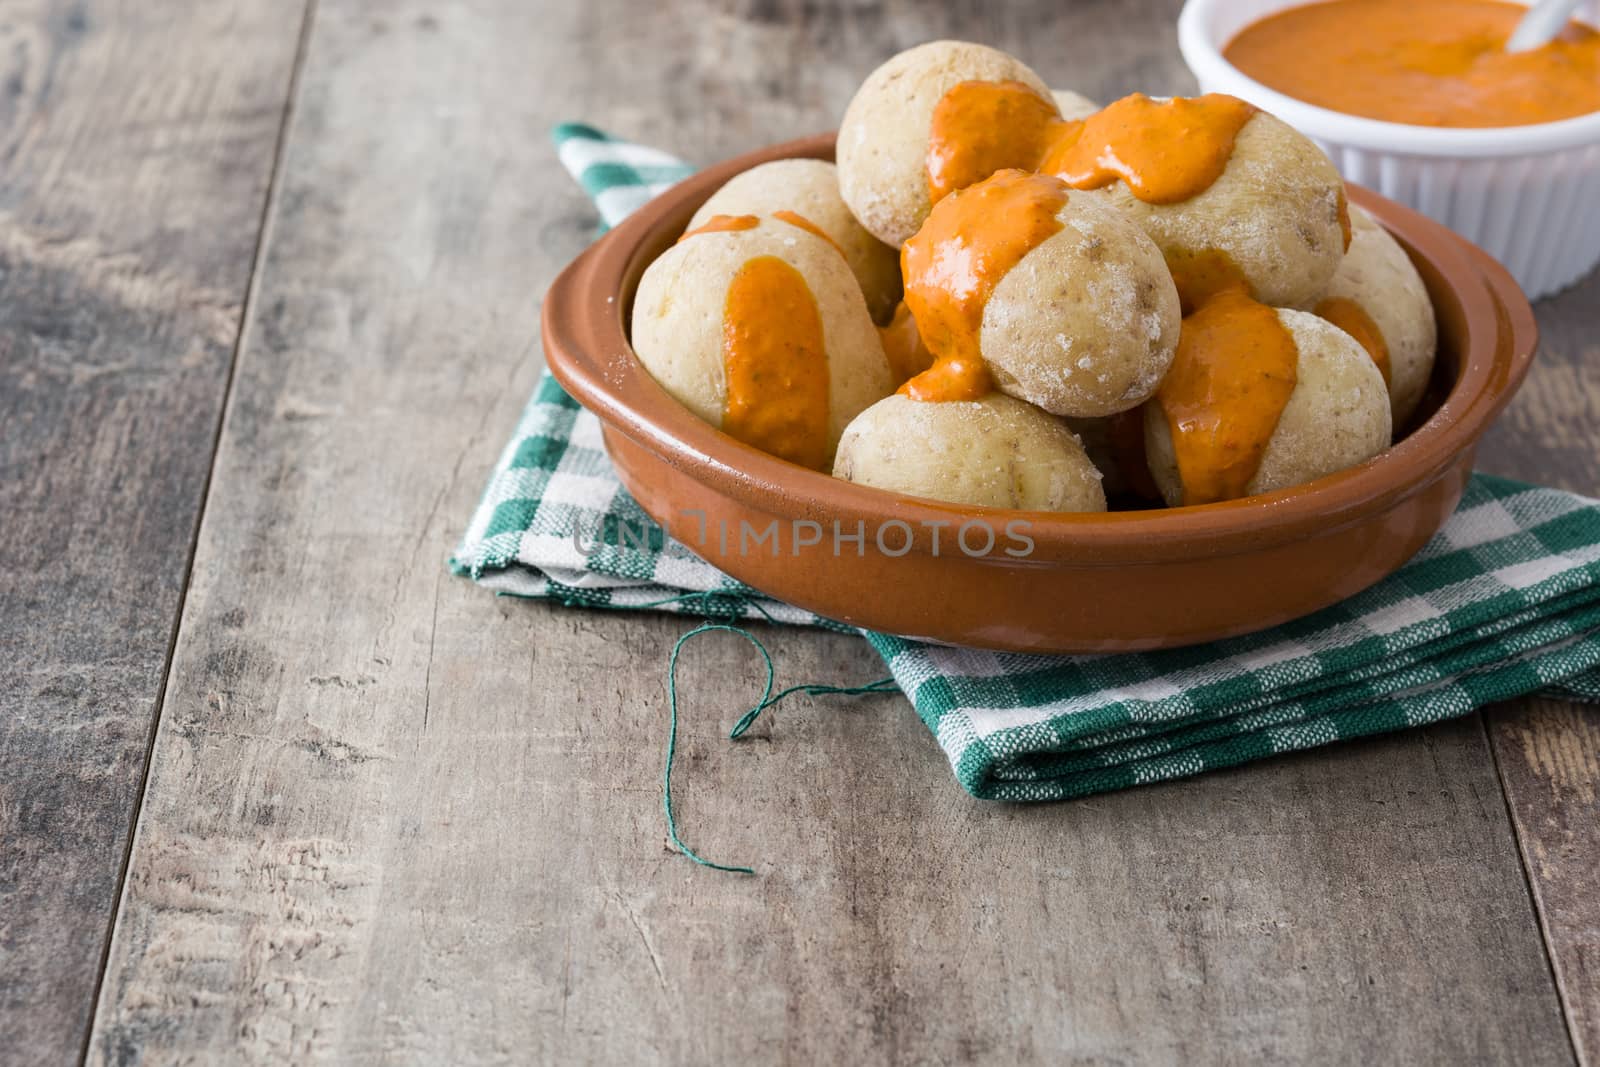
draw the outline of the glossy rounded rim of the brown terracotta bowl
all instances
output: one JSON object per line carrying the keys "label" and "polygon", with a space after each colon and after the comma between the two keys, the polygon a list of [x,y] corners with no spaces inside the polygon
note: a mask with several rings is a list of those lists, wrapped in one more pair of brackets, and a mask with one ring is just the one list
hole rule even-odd
{"label": "glossy rounded rim of the brown terracotta bowl", "polygon": [[[1405,440],[1347,470],[1221,504],[1056,514],[941,504],[854,485],[733,440],[691,414],[645,371],[629,344],[632,298],[645,267],[731,176],[778,158],[834,158],[834,134],[739,155],[678,182],[574,259],[542,312],[546,362],[586,408],[707,488],[774,515],[918,525],[979,518],[1029,523],[1029,563],[1128,565],[1251,552],[1325,534],[1392,507],[1451,467],[1522,384],[1538,330],[1528,299],[1499,264],[1443,226],[1352,186],[1418,264],[1437,317],[1461,326],[1456,379],[1434,416]],[[1008,563],[1014,563],[1008,560]]]}

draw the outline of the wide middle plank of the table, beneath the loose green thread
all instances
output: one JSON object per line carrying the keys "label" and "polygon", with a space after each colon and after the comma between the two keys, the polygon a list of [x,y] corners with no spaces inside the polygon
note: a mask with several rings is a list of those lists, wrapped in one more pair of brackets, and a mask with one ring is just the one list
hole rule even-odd
{"label": "wide middle plank of the table, beneath the loose green thread", "polygon": [[[688,622],[443,571],[594,214],[544,133],[710,160],[918,40],[1186,90],[1173,0],[323,0],[93,1062],[1571,1062],[1475,720],[1072,805],[978,803],[899,697],[723,733]],[[763,632],[782,681],[882,670]]]}

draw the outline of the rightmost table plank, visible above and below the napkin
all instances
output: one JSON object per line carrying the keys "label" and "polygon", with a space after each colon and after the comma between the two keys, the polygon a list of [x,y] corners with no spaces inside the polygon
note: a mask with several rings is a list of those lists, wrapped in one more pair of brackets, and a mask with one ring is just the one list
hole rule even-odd
{"label": "rightmost table plank, visible above and below the napkin", "polygon": [[[1600,496],[1600,274],[1536,310],[1539,358],[1478,466]],[[1573,1045],[1600,1064],[1600,710],[1523,701],[1485,718]]]}

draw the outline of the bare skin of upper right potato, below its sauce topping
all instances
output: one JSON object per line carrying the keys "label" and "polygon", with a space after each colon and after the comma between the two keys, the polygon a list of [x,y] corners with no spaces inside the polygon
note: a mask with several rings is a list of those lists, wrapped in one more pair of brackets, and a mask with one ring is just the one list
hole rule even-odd
{"label": "bare skin of upper right potato, below its sauce topping", "polygon": [[1344,182],[1309,138],[1266,112],[1238,131],[1234,154],[1208,189],[1178,203],[1146,203],[1122,181],[1093,190],[1144,227],[1173,270],[1222,253],[1250,294],[1302,307],[1344,258]]}

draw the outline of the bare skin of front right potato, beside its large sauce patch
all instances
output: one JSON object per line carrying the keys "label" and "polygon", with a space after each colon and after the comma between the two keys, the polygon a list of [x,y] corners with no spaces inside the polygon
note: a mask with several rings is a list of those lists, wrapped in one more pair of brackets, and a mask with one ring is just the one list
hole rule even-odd
{"label": "bare skin of front right potato, beside its large sauce patch", "polygon": [[[1389,390],[1366,350],[1333,323],[1278,309],[1298,349],[1296,384],[1267,440],[1246,496],[1301,485],[1366,462],[1389,448]],[[1171,429],[1160,402],[1144,410],[1150,477],[1168,506],[1184,502]]]}

